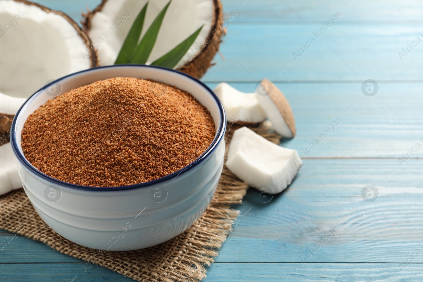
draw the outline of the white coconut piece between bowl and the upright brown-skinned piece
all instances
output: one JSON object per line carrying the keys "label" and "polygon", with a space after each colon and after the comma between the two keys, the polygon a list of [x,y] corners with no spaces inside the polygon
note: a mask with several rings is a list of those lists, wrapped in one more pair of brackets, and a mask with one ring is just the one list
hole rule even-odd
{"label": "white coconut piece between bowl and the upright brown-skinned piece", "polygon": [[222,101],[228,121],[259,123],[266,119],[266,113],[258,104],[255,93],[241,92],[226,82],[219,83],[213,91]]}

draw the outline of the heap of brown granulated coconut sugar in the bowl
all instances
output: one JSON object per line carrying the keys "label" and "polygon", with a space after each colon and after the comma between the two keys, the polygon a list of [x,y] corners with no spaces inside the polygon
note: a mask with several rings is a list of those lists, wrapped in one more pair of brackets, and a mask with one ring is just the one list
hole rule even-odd
{"label": "heap of brown granulated coconut sugar in the bowl", "polygon": [[[157,88],[165,94],[157,95]],[[38,108],[25,122],[21,144],[25,158],[49,176],[110,187],[151,181],[185,167],[206,151],[214,134],[210,112],[190,93],[116,77]]]}

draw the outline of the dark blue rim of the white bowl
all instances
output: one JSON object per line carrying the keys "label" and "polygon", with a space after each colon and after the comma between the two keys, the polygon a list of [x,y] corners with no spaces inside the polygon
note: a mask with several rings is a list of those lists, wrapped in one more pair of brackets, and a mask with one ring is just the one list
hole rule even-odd
{"label": "dark blue rim of the white bowl", "polygon": [[[222,141],[222,139],[224,139],[225,137],[225,128],[226,128],[226,115],[225,115],[225,110],[223,109],[223,105],[220,102],[219,98],[217,98],[216,94],[214,94],[214,92],[207,86],[205,85],[203,82],[201,82],[200,80],[196,79],[195,77],[190,76],[189,74],[185,74],[181,71],[175,71],[171,68],[165,68],[165,67],[161,67],[161,66],[148,66],[148,65],[137,65],[137,64],[122,64],[122,65],[111,65],[111,66],[100,66],[100,67],[95,67],[95,68],[88,68],[86,70],[83,71],[78,71],[75,72],[73,74],[68,74],[64,77],[60,77],[59,79],[56,79],[55,81],[51,82],[51,83],[55,83],[55,82],[60,82],[60,80],[66,79],[68,77],[72,77],[74,75],[77,74],[82,74],[85,72],[90,72],[96,69],[102,69],[102,68],[115,68],[115,67],[125,67],[125,66],[129,66],[129,67],[143,67],[143,68],[159,68],[162,69],[164,71],[171,71],[175,74],[180,74],[183,75],[185,77],[188,77],[189,79],[191,79],[192,81],[198,83],[199,85],[201,85],[203,88],[205,88],[207,91],[209,91],[209,93],[211,94],[211,96],[214,98],[214,100],[217,103],[217,106],[219,107],[219,112],[220,112],[220,124],[219,124],[219,128],[217,129],[217,133],[216,136],[213,139],[213,142],[211,142],[211,145],[209,146],[209,148],[206,149],[206,151],[204,151],[204,153],[201,154],[201,156],[199,156],[197,159],[195,159],[192,163],[188,164],[187,166],[181,168],[180,170],[177,170],[176,172],[173,172],[171,174],[165,175],[161,178],[157,178],[151,181],[147,181],[147,182],[143,182],[143,183],[138,183],[138,184],[133,184],[133,185],[126,185],[126,186],[112,186],[112,187],[99,187],[99,186],[83,186],[83,185],[77,185],[77,184],[72,184],[66,181],[61,181],[58,180],[56,178],[53,178],[47,174],[45,174],[44,172],[41,172],[39,170],[37,170],[32,164],[30,164],[30,162],[27,161],[27,159],[25,158],[25,156],[23,156],[23,154],[21,154],[19,152],[19,148],[17,148],[16,146],[16,131],[11,130],[11,134],[10,134],[10,142],[12,145],[12,149],[13,152],[16,156],[16,158],[19,160],[19,162],[21,164],[23,164],[27,169],[29,169],[30,171],[32,171],[33,173],[35,173],[37,176],[46,179],[47,181],[50,181],[54,184],[60,185],[60,186],[66,186],[68,188],[72,188],[72,189],[78,189],[78,190],[85,190],[85,191],[96,191],[96,192],[109,192],[109,191],[122,191],[122,190],[133,190],[133,189],[138,189],[138,188],[144,188],[144,187],[148,187],[154,184],[158,184],[164,181],[167,181],[169,179],[172,178],[176,178],[178,175],[180,175],[183,172],[186,172],[188,170],[191,170],[192,168],[194,168],[195,166],[197,166],[198,164],[200,164],[204,159],[206,159],[206,156],[211,155],[211,153],[213,153],[216,148],[217,145],[220,144],[220,142]],[[16,120],[17,117],[19,116],[22,108],[25,106],[25,104],[27,104],[27,102],[36,94],[41,93],[41,91],[45,90],[47,87],[49,87],[49,85],[44,85],[44,87],[38,89],[35,93],[33,93],[26,101],[24,104],[22,104],[22,106],[19,108],[19,110],[16,112],[16,115],[13,119],[12,122],[12,126],[11,128],[13,129],[16,126]],[[223,140],[224,142],[224,140]]]}

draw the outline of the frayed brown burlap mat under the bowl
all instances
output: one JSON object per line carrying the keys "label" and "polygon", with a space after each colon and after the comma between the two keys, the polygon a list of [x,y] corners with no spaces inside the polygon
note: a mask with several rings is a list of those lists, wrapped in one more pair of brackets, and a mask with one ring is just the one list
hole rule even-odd
{"label": "frayed brown burlap mat under the bowl", "polygon": [[[234,130],[240,126],[228,124],[226,150]],[[280,136],[268,133],[265,124],[249,126],[268,140],[278,143]],[[231,204],[241,203],[248,185],[226,167],[209,207],[181,235],[157,246],[129,252],[104,252],[86,248],[61,237],[38,216],[23,189],[0,197],[0,228],[41,241],[53,249],[92,264],[103,266],[138,281],[197,282],[206,277],[205,265],[213,263],[217,249],[231,232],[239,211]]]}

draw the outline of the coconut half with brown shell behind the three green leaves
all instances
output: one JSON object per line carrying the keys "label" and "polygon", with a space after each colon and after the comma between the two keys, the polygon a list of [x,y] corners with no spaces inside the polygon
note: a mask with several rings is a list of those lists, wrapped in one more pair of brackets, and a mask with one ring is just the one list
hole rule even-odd
{"label": "coconut half with brown shell behind the three green leaves", "polygon": [[[113,65],[135,18],[146,0],[102,0],[83,23],[96,49],[99,65]],[[141,37],[169,0],[149,0]],[[220,0],[173,0],[166,11],[147,64],[184,41],[202,25],[175,69],[200,78],[211,65],[225,32]]]}

